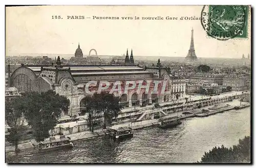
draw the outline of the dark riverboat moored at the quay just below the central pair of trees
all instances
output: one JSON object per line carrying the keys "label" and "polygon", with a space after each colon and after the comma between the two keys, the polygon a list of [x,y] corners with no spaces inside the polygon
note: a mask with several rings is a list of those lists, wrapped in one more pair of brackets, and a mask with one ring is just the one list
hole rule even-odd
{"label": "dark riverboat moored at the quay just below the central pair of trees", "polygon": [[130,127],[120,127],[118,129],[107,129],[105,134],[113,137],[114,139],[133,137],[133,131],[132,131],[132,128]]}

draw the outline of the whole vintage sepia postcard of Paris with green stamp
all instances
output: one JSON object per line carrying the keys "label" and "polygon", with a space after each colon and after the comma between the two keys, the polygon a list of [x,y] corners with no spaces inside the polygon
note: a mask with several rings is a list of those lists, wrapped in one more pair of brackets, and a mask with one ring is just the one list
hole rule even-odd
{"label": "whole vintage sepia postcard of Paris with green stamp", "polygon": [[6,163],[251,163],[251,6],[6,6]]}

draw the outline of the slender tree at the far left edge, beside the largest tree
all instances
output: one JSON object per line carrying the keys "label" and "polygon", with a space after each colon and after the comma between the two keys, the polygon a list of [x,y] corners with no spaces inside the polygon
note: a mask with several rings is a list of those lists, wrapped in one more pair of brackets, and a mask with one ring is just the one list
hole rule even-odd
{"label": "slender tree at the far left edge, beside the largest tree", "polygon": [[18,152],[18,144],[24,137],[26,126],[20,122],[22,117],[22,102],[20,97],[14,98],[12,101],[5,102],[5,117],[6,122],[10,128],[8,128],[9,135],[6,136],[7,140],[15,146],[15,151]]}

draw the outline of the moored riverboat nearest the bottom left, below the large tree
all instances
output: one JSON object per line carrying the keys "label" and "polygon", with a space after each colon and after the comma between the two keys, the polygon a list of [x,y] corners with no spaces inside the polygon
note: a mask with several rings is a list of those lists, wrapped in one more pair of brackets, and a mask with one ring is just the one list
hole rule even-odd
{"label": "moored riverboat nearest the bottom left, below the large tree", "polygon": [[59,137],[59,139],[50,137],[49,140],[39,143],[38,152],[48,152],[72,147],[73,143],[71,142],[70,137],[65,137],[65,135],[62,135]]}

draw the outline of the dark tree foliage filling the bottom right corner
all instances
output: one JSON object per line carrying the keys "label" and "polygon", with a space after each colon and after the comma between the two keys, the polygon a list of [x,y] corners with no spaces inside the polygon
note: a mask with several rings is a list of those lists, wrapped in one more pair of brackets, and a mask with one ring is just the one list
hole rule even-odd
{"label": "dark tree foliage filling the bottom right corner", "polygon": [[223,145],[204,152],[201,163],[249,163],[250,162],[250,136],[239,139],[239,144],[233,148]]}

